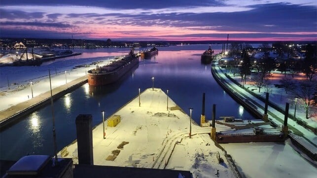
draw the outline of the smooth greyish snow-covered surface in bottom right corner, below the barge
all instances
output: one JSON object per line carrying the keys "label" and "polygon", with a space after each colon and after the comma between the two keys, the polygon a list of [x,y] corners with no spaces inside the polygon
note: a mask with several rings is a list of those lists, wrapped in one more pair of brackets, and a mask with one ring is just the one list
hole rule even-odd
{"label": "smooth greyish snow-covered surface in bottom right corner, below the barge", "polygon": [[247,178],[316,178],[315,165],[286,140],[221,144]]}

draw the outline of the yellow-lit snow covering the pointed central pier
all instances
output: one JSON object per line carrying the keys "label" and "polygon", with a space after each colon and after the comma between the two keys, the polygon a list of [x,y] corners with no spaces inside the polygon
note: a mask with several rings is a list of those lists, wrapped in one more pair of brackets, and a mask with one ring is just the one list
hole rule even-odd
{"label": "yellow-lit snow covering the pointed central pier", "polygon": [[[105,122],[106,139],[103,139],[102,123],[94,128],[95,165],[189,170],[195,178],[217,177],[218,170],[220,178],[234,177],[223,151],[208,135],[210,127],[201,128],[192,123],[192,138],[189,138],[190,117],[179,107],[174,110],[177,107],[171,99],[167,110],[167,95],[161,89],[146,89],[140,99],[141,107],[137,96],[114,113],[121,116],[116,127],[108,127]],[[219,125],[219,130],[228,129]],[[118,148],[123,142],[128,143]],[[77,142],[67,146],[67,151],[66,157],[78,163]],[[106,160],[114,152],[118,153],[116,158]],[[217,162],[217,153],[224,163]]]}

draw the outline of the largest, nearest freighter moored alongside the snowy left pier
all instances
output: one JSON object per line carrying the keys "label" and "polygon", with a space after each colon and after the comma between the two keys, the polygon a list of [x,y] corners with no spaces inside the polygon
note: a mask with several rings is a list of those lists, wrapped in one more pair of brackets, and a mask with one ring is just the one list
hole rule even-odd
{"label": "largest, nearest freighter moored alongside the snowy left pier", "polygon": [[131,50],[123,59],[88,71],[88,84],[91,86],[106,85],[116,82],[122,75],[139,65],[139,58]]}

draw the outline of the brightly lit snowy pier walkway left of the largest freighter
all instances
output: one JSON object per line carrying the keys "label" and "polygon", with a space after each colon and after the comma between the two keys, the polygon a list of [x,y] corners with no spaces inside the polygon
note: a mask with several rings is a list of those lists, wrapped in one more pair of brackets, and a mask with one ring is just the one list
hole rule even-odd
{"label": "brightly lit snowy pier walkway left of the largest freighter", "polygon": [[[105,64],[106,61],[100,63],[100,65]],[[87,71],[93,68],[95,65],[66,72],[55,73],[55,71],[51,71],[53,99],[55,100],[86,83]],[[32,86],[30,81],[25,81],[17,85],[10,85],[10,87],[0,88],[0,129],[50,102],[48,74],[47,71],[46,76],[33,79]]]}

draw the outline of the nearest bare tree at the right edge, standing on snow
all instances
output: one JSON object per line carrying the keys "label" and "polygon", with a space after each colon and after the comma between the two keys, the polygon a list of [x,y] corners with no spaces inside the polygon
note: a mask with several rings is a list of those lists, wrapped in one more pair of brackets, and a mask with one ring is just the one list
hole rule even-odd
{"label": "nearest bare tree at the right edge, standing on snow", "polygon": [[308,119],[308,111],[315,105],[315,94],[317,93],[317,82],[310,80],[302,80],[296,84],[292,92],[306,111],[306,119]]}

